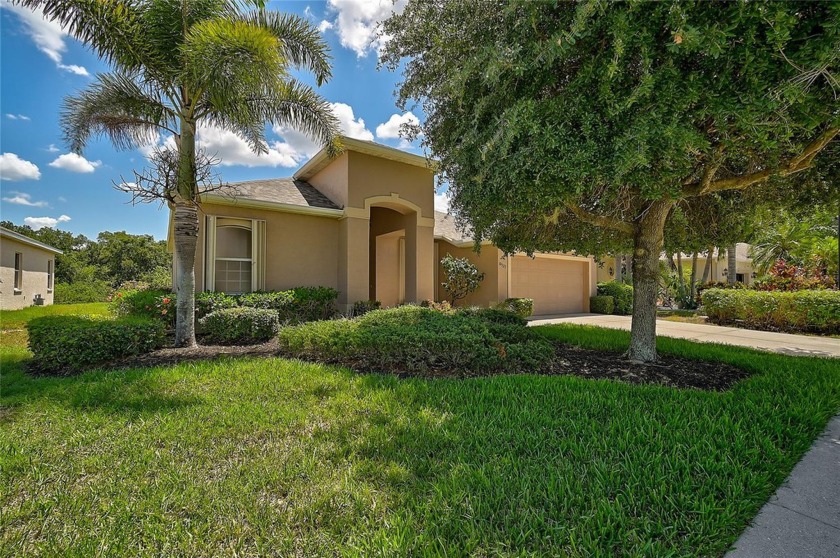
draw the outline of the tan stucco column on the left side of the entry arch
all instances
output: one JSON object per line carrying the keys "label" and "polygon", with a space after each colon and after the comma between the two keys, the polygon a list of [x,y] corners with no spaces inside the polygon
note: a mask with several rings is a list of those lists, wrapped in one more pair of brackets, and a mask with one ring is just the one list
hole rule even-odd
{"label": "tan stucco column on the left side of the entry arch", "polygon": [[338,303],[346,311],[370,296],[370,219],[343,218],[338,244]]}

